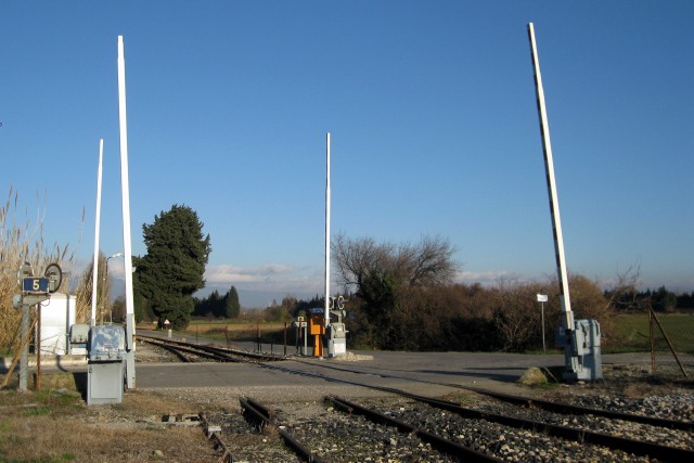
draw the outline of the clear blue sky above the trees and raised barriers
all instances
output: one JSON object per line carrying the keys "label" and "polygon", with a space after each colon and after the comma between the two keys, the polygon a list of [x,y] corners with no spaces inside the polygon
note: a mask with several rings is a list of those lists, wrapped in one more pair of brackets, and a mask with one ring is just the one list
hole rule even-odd
{"label": "clear blue sky above the trees and raised barriers", "polygon": [[440,235],[461,281],[544,280],[532,22],[569,270],[692,291],[693,21],[691,1],[3,0],[0,194],[88,261],[103,138],[101,247],[123,249],[123,35],[136,255],[184,204],[210,286],[322,294],[330,131],[333,235]]}

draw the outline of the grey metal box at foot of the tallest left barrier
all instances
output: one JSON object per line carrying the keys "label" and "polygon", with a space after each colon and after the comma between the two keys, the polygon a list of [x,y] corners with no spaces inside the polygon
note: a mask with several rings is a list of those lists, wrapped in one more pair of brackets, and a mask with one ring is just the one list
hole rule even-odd
{"label": "grey metal box at foot of the tallest left barrier", "polygon": [[125,386],[126,332],[118,325],[89,330],[87,404],[120,403]]}

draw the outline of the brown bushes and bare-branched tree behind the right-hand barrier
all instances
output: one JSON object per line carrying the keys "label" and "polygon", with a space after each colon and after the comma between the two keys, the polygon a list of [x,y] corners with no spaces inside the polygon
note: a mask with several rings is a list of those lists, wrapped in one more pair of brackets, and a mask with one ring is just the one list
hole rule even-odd
{"label": "brown bushes and bare-branched tree behind the right-hand barrier", "polygon": [[[339,235],[334,268],[349,300],[348,347],[385,350],[515,351],[542,348],[544,303],[548,346],[562,323],[558,284],[500,280],[494,286],[457,284],[458,265],[446,240],[416,244],[376,243]],[[576,319],[596,319],[614,332],[614,310],[597,284],[570,275]],[[618,293],[620,294],[620,293]]]}

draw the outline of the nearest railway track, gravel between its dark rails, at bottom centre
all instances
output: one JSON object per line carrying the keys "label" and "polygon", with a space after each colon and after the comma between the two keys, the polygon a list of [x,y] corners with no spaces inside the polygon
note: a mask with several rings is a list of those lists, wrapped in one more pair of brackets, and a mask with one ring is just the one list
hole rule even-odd
{"label": "nearest railway track, gravel between its dark rails, at bottom centre", "polygon": [[[501,460],[478,452],[434,433],[417,429],[375,410],[360,407],[338,397],[326,397],[323,407],[326,410],[342,410],[346,413],[330,413],[326,422],[293,414],[297,407],[275,411],[259,401],[241,397],[241,415],[256,433],[271,435],[277,433],[294,456],[274,454],[259,456],[255,453],[252,461],[297,461],[337,462],[337,461],[426,461],[426,462],[500,462]],[[221,429],[223,426],[217,426]],[[346,434],[349,436],[346,437]],[[246,460],[247,450],[233,443],[233,436],[218,433],[214,436],[224,449],[228,461]],[[359,448],[351,445],[360,442]],[[348,447],[346,447],[348,446]],[[275,460],[277,459],[277,460]],[[290,459],[290,460],[287,460]]]}

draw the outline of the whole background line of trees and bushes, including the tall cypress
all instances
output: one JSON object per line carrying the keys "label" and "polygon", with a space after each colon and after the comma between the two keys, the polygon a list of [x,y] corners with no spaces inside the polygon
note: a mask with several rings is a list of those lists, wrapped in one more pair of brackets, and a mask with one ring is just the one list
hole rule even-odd
{"label": "whole background line of trees and bushes, including the tall cypress", "polygon": [[[134,259],[136,311],[180,329],[192,314],[239,314],[237,293],[231,287],[196,299],[204,286],[204,269],[211,246],[197,215],[185,206],[155,217],[144,224],[147,254]],[[492,286],[457,283],[460,266],[454,248],[439,236],[422,236],[416,243],[376,242],[371,237],[337,235],[331,243],[333,272],[346,297],[348,346],[393,350],[506,350],[542,346],[542,311],[545,340],[553,345],[562,323],[558,283],[499,280]],[[656,310],[679,304],[691,306],[692,295],[676,296],[664,287],[640,293],[635,279],[620,279],[603,291],[580,274],[569,276],[575,319],[600,322],[603,345],[617,343],[616,316],[634,301],[647,298]],[[537,295],[549,296],[540,305]],[[323,307],[316,296],[305,301],[287,295],[265,310],[270,320],[291,321],[311,307]]]}

